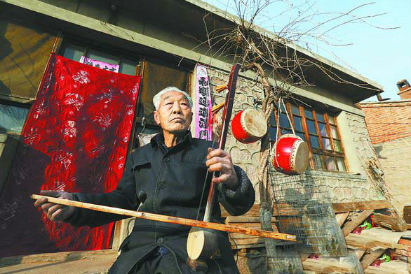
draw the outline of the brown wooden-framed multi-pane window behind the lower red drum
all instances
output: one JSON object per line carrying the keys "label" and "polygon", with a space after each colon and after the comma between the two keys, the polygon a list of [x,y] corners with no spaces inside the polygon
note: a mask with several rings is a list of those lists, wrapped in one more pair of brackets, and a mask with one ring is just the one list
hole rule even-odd
{"label": "brown wooden-framed multi-pane window behind the lower red drum", "polygon": [[[290,115],[290,119],[288,119],[285,110]],[[309,145],[311,168],[325,171],[347,171],[344,150],[334,114],[286,103],[285,107],[281,106],[279,119],[278,113],[271,115],[269,137],[272,142],[276,140],[278,120],[281,135],[292,133],[291,120],[295,134]]]}

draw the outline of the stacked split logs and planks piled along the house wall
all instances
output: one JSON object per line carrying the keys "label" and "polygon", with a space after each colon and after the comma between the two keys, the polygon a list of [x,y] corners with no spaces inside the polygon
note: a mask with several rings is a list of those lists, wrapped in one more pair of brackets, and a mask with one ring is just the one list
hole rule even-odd
{"label": "stacked split logs and planks piled along the house wall", "polygon": [[[342,227],[349,252],[356,254],[364,273],[402,274],[411,273],[411,224],[405,224],[402,217],[392,210],[389,201],[369,201],[358,203],[333,203],[337,223]],[[404,215],[411,215],[404,210]],[[407,212],[407,213],[406,213]],[[409,212],[409,213],[408,213]],[[274,210],[271,220],[274,231],[276,217],[281,212]],[[226,224],[237,226],[260,227],[259,205],[241,217],[229,217],[222,209]],[[375,227],[362,229],[361,224],[368,220]],[[407,230],[410,229],[410,230]],[[264,247],[264,239],[247,238],[240,235],[230,235],[231,247],[238,253],[245,254],[254,247]],[[391,258],[382,262],[383,256]],[[302,266],[306,273],[356,273],[356,265],[344,257],[316,257],[302,255]]]}

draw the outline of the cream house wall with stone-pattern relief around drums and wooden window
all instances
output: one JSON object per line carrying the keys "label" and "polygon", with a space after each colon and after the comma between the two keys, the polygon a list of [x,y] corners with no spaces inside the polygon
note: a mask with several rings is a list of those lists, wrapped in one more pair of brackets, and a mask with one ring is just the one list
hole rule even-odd
{"label": "cream house wall with stone-pattern relief around drums and wooden window", "polygon": [[[228,82],[229,74],[218,69],[208,69],[210,77],[210,89],[214,94],[216,85],[224,85]],[[321,90],[323,94],[330,94],[330,91]],[[224,99],[222,94],[214,94],[216,103],[221,103]],[[252,100],[262,99],[264,96],[262,88],[255,85],[255,82],[245,78],[238,78],[236,99],[234,101],[233,115],[240,110],[253,108]],[[372,185],[363,168],[363,162],[367,159],[375,159],[376,154],[370,143],[370,137],[365,126],[364,117],[342,111],[337,117],[337,124],[341,133],[346,159],[349,164],[350,173],[338,173],[328,171],[309,171],[311,178],[314,178],[319,186],[318,191],[327,193],[328,199],[332,203],[375,201],[382,200],[382,192]],[[260,161],[260,141],[251,144],[238,142],[231,136],[231,127],[227,137],[226,150],[230,152],[234,164],[241,166],[252,185],[256,190],[256,203],[260,203],[260,193],[258,192],[258,171]]]}

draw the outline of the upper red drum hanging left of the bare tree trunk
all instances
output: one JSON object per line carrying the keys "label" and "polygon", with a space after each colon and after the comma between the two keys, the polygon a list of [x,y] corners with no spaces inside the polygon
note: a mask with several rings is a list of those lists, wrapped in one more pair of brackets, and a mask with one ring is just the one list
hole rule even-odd
{"label": "upper red drum hanging left of the bare tree trunk", "polygon": [[254,108],[242,110],[231,122],[231,131],[241,143],[254,143],[267,133],[267,122]]}

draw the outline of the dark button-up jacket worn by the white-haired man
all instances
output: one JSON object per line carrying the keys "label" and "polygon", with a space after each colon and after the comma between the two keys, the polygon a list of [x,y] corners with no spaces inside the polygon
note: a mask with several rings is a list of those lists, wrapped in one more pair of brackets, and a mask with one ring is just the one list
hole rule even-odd
{"label": "dark button-up jacket worn by the white-haired man", "polygon": [[[123,178],[111,193],[75,194],[76,199],[128,210],[138,210],[161,215],[196,219],[207,167],[205,157],[210,141],[192,138],[188,132],[177,145],[169,149],[164,145],[163,134],[154,136],[151,142],[132,152],[123,171]],[[217,200],[231,215],[242,215],[255,201],[255,192],[244,171],[234,166],[239,178],[239,187],[217,187]],[[200,207],[203,219],[210,178],[205,182],[205,194]],[[213,222],[222,222],[218,203],[213,207]],[[100,226],[123,219],[85,209],[76,209],[69,220],[74,226]],[[191,227],[180,224],[136,219],[133,232],[121,244],[121,254],[110,273],[128,273],[133,266],[159,245],[168,247],[177,261],[187,259],[187,234]],[[223,273],[235,273],[236,264],[231,252],[227,233],[219,231],[219,248],[222,259],[217,261]],[[174,266],[170,266],[173,268]],[[218,269],[218,268],[215,268]],[[214,273],[213,267],[208,273]],[[220,273],[218,271],[217,273]]]}

